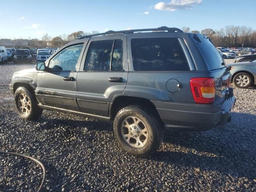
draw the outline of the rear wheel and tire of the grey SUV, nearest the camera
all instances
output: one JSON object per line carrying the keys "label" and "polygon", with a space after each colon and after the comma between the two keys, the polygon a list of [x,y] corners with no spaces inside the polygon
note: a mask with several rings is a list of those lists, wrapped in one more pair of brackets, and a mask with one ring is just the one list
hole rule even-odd
{"label": "rear wheel and tire of the grey SUV, nearest the camera", "polygon": [[126,152],[134,156],[148,156],[160,147],[164,126],[152,112],[133,105],[121,109],[116,114],[114,134]]}

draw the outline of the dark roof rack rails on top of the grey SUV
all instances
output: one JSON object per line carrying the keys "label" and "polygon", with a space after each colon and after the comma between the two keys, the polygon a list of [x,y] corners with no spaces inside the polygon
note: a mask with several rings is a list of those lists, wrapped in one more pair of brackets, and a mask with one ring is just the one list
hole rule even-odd
{"label": "dark roof rack rails on top of the grey SUV", "polygon": [[98,34],[92,34],[92,35],[85,35],[80,37],[79,39],[84,39],[84,38],[89,38],[89,37],[94,37],[94,36],[101,36],[101,35],[110,35],[110,34],[132,34],[134,32],[142,32],[142,31],[168,31],[169,33],[174,33],[174,32],[178,32],[178,33],[183,33],[182,30],[180,30],[179,28],[169,28],[166,26],[162,26],[162,27],[158,27],[158,28],[151,28],[151,29],[133,29],[133,30],[124,30],[124,31],[107,31],[105,33],[98,33]]}

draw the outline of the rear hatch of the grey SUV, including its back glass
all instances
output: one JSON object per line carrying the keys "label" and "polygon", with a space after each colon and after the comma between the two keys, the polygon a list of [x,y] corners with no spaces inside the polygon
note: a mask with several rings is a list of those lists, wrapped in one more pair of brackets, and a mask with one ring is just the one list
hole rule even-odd
{"label": "rear hatch of the grey SUV, including its back glass", "polygon": [[227,70],[225,62],[218,50],[207,36],[202,34],[192,34],[192,37],[202,51],[208,68],[214,77],[215,102],[221,103],[225,96],[229,94],[228,86],[231,82],[231,74]]}

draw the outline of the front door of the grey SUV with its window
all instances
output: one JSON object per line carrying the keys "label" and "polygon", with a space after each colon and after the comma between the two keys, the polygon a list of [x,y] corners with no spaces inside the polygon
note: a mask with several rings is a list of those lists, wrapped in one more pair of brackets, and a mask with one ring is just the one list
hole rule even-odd
{"label": "front door of the grey SUV with its window", "polygon": [[37,76],[36,98],[46,106],[80,110],[76,102],[76,77],[84,52],[84,43],[60,50]]}

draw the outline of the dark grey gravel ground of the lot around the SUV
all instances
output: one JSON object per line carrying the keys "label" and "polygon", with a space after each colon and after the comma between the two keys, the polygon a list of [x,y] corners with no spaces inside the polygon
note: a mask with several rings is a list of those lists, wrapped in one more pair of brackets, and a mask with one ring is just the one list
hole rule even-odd
{"label": "dark grey gravel ground of the lot around the SUV", "polygon": [[[0,150],[40,160],[46,191],[256,191],[255,88],[234,89],[231,123],[166,132],[158,152],[137,158],[120,149],[112,124],[48,110],[20,119],[8,84],[31,67],[0,65]],[[41,180],[34,162],[0,154],[0,191],[35,191]]]}

